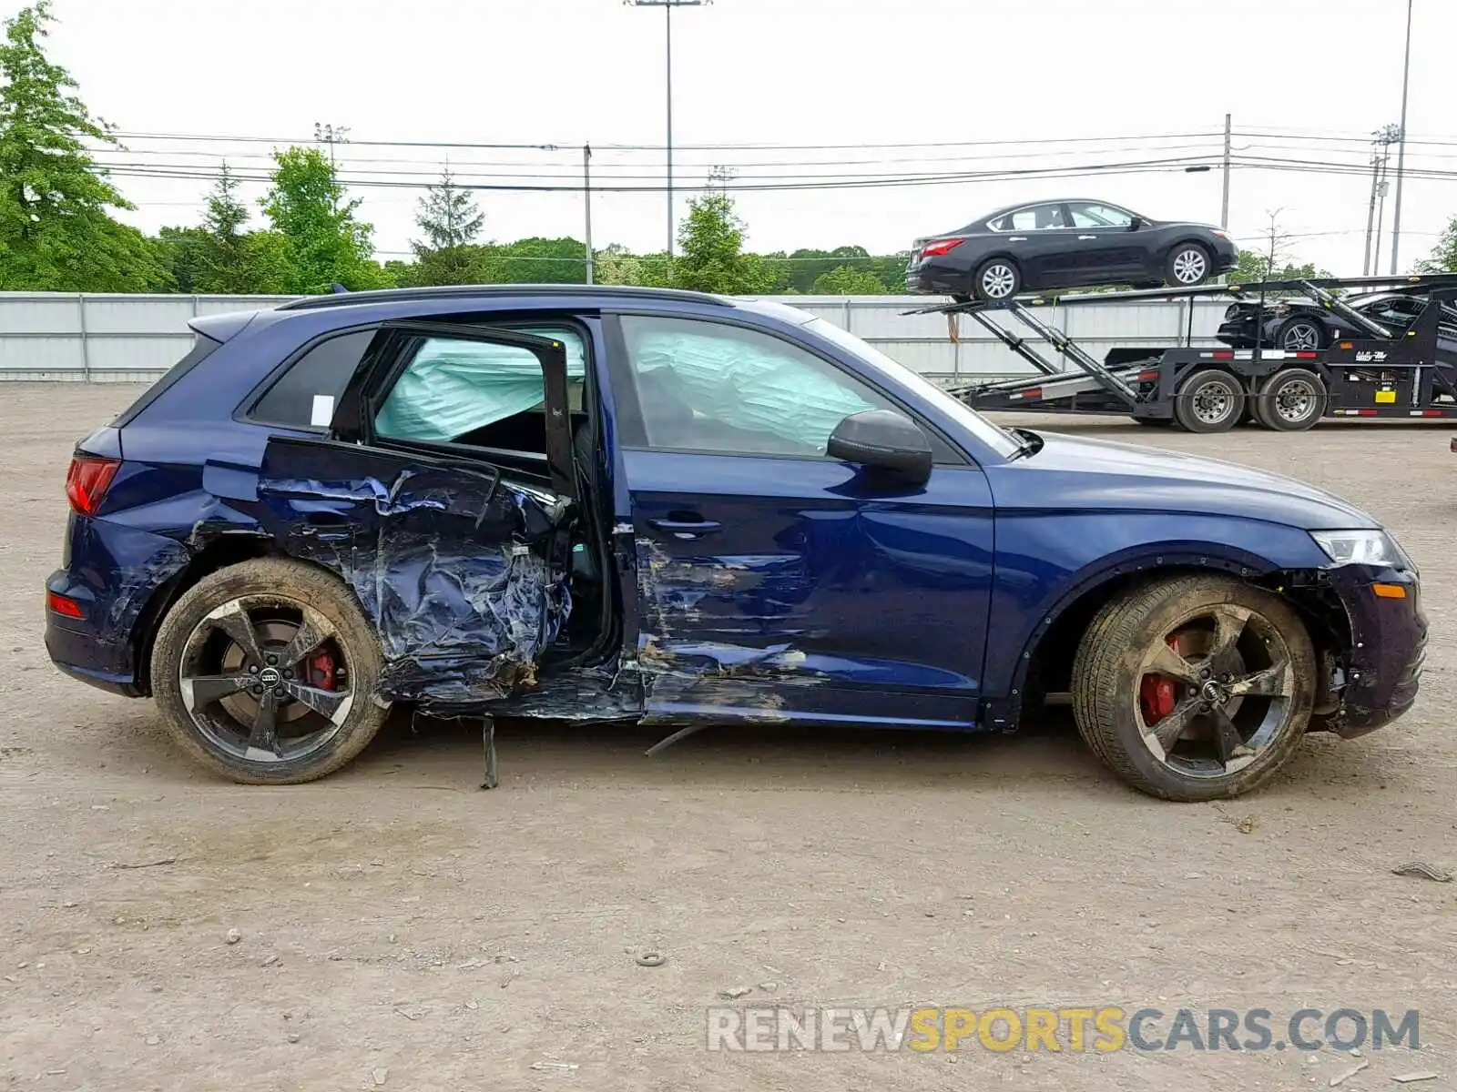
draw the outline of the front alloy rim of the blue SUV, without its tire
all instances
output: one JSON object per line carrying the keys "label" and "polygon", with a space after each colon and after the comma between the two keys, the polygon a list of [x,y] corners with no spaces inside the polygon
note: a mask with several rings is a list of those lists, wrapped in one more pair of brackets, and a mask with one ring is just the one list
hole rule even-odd
{"label": "front alloy rim of the blue SUV, without its tire", "polygon": [[1292,654],[1279,629],[1224,603],[1179,622],[1145,649],[1136,716],[1170,770],[1222,778],[1249,766],[1295,713]]}

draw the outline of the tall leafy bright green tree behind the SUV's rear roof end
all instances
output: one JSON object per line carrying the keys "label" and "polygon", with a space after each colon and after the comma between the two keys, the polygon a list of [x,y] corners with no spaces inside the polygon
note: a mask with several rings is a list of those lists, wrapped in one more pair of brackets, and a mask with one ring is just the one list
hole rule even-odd
{"label": "tall leafy bright green tree behind the SUV's rear roof end", "polygon": [[345,199],[335,167],[318,149],[274,153],[272,188],[259,201],[284,240],[284,293],[326,293],[331,285],[379,288],[389,281],[373,261],[374,229],[354,218],[360,201]]}

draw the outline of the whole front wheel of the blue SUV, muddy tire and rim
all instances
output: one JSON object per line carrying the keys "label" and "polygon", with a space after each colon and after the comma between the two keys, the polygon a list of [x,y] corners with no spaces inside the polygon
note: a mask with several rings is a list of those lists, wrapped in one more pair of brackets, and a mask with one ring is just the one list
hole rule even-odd
{"label": "whole front wheel of the blue SUV, muddy tire and rim", "polygon": [[1093,753],[1141,792],[1220,799],[1285,763],[1314,678],[1289,604],[1228,577],[1179,577],[1097,613],[1072,664],[1072,712]]}

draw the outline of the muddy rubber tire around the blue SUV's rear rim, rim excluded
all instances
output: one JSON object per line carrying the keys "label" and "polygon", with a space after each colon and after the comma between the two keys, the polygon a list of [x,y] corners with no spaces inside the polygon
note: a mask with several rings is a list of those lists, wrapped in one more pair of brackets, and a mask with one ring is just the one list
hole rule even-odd
{"label": "muddy rubber tire around the blue SUV's rear rim, rim excluded", "polygon": [[[194,632],[219,607],[249,597],[316,612],[332,625],[331,641],[347,660],[353,699],[326,727],[332,734],[307,754],[255,761],[224,750],[195,724],[184,700],[181,671]],[[379,638],[338,577],[303,562],[262,558],[204,577],[172,606],[153,645],[152,693],[168,732],[207,769],[242,785],[299,785],[344,767],[374,738],[389,713],[373,697],[382,665]]]}

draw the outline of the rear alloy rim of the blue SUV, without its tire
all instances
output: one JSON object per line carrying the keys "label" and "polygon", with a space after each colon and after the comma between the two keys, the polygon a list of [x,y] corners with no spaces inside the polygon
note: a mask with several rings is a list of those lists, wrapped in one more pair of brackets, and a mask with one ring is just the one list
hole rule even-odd
{"label": "rear alloy rim of the blue SUV, without its tire", "polygon": [[184,645],[182,705],[216,747],[248,761],[315,754],[354,703],[353,664],[313,607],[245,596],[210,612]]}

